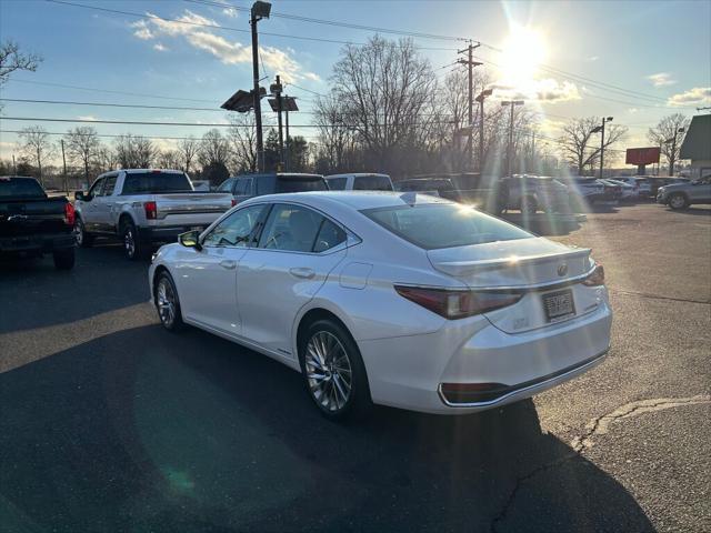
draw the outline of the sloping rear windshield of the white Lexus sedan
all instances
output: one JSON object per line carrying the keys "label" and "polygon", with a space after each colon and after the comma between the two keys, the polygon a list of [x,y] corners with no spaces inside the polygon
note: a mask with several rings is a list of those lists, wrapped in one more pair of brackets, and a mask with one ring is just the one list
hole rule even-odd
{"label": "sloping rear windshield of the white Lexus sedan", "polygon": [[361,211],[365,217],[425,250],[528,239],[531,233],[460,204],[420,204]]}

